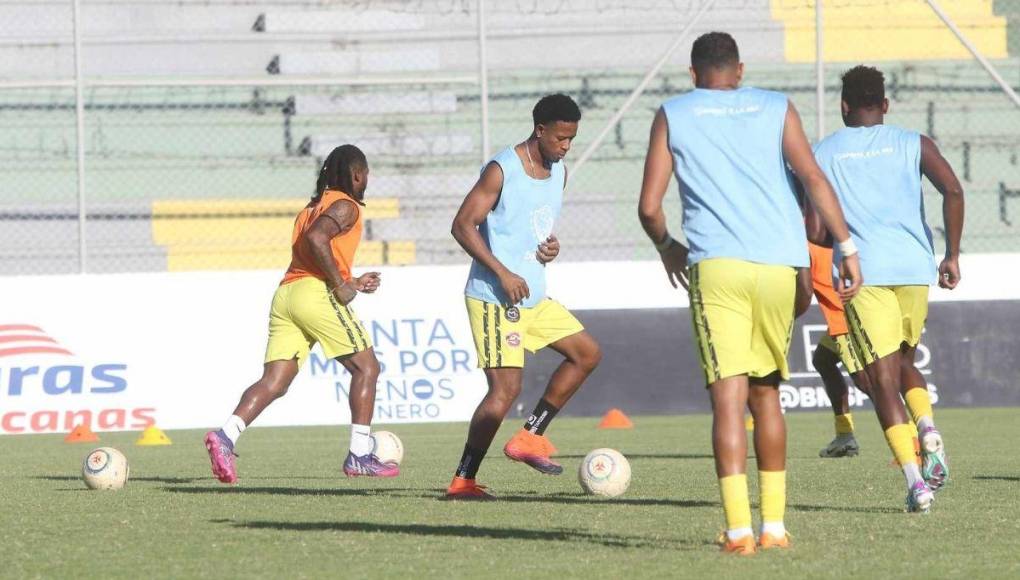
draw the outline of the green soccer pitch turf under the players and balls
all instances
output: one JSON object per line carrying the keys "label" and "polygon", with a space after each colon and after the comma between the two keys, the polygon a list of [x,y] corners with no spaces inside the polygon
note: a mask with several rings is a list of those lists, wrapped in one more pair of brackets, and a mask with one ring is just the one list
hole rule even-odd
{"label": "green soccer pitch turf under the players and balls", "polygon": [[[347,427],[256,427],[238,449],[237,486],[211,478],[200,431],[170,431],[164,447],[102,433],[95,446],[131,462],[117,492],[82,483],[90,445],[0,437],[0,577],[1016,577],[1016,413],[937,411],[952,476],[928,515],[904,513],[903,477],[872,412],[855,414],[861,456],[842,460],[818,458],[830,415],[788,416],[795,543],[754,558],[712,543],[723,522],[707,416],[636,417],[626,431],[558,419],[549,434],[560,477],[502,456],[519,423],[508,420],[479,474],[502,499],[488,504],[440,500],[464,424],[378,426],[406,449],[403,473],[381,481],[341,475]],[[580,458],[599,446],[630,460],[621,497],[577,484]]]}

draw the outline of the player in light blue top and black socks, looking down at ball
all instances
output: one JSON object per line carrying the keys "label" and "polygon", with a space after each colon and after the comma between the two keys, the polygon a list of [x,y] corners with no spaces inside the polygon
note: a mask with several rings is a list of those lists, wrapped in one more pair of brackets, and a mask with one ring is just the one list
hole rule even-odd
{"label": "player in light blue top and black socks, looking down at ball", "polygon": [[580,109],[570,97],[549,95],[532,111],[523,143],[496,155],[464,199],[453,235],[474,261],[464,288],[478,366],[489,392],[474,411],[467,443],[447,497],[490,499],[475,474],[520,393],[524,350],[549,347],[563,362],[524,427],[503,447],[514,461],[559,475],[546,428],[602,358],[598,342],[566,308],[546,296],[546,264],[560,251],[553,234],[563,203],[563,157],[577,135]]}

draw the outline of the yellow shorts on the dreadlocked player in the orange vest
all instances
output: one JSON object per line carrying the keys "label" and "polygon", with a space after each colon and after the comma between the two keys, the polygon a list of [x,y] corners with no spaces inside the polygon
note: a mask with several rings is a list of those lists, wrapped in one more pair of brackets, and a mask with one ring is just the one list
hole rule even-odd
{"label": "yellow shorts on the dreadlocked player in the orange vest", "polygon": [[330,359],[372,348],[351,308],[337,302],[325,282],[306,276],[280,285],[272,297],[265,362],[297,359],[300,366],[315,342]]}

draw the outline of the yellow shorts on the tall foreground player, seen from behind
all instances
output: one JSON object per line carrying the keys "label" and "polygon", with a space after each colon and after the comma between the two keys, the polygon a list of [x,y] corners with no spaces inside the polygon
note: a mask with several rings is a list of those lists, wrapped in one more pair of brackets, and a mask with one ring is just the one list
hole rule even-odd
{"label": "yellow shorts on the tall foreground player, seen from behind", "polygon": [[794,329],[797,270],[712,258],[691,268],[691,318],[705,382],[779,371]]}

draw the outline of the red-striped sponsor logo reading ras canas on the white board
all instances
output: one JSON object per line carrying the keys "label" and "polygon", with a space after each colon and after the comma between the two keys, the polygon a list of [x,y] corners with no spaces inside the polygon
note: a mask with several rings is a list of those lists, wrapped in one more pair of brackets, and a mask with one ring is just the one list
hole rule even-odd
{"label": "red-striped sponsor logo reading ras canas on the white board", "polygon": [[[0,433],[60,432],[83,424],[100,430],[154,424],[154,408],[128,408],[92,397],[119,394],[128,386],[126,364],[84,363],[39,326],[0,324]],[[86,405],[89,408],[74,408]]]}

